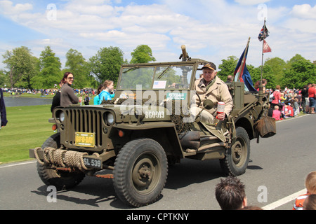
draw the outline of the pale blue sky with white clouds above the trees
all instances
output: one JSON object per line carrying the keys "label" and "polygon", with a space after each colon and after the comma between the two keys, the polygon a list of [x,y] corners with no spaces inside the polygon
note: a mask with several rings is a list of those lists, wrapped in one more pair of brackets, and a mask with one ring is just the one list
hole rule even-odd
{"label": "pale blue sky with white clouds above the trees", "polygon": [[272,49],[264,60],[316,60],[316,0],[0,0],[0,69],[6,50],[26,46],[40,57],[47,45],[62,69],[71,48],[88,60],[100,48],[119,47],[130,61],[142,44],[157,62],[180,61],[185,45],[190,57],[218,66],[239,58],[249,37],[246,63],[260,66],[264,20]]}

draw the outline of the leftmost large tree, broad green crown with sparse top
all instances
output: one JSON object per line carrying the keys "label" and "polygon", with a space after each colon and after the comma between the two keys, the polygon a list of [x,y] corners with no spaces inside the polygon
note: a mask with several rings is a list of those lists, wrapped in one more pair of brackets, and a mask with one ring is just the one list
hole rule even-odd
{"label": "leftmost large tree, broad green crown with sparse top", "polygon": [[4,55],[4,64],[9,69],[11,87],[31,88],[31,79],[37,73],[37,58],[32,56],[29,48],[22,46],[7,50]]}

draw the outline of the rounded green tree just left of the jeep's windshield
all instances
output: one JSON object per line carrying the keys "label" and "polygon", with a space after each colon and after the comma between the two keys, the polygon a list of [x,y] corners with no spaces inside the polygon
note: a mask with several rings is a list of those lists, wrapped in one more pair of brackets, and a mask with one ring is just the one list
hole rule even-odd
{"label": "rounded green tree just left of the jeep's windshield", "polygon": [[96,56],[89,59],[89,71],[96,76],[99,83],[112,80],[117,83],[119,70],[124,64],[124,53],[117,47],[101,48]]}

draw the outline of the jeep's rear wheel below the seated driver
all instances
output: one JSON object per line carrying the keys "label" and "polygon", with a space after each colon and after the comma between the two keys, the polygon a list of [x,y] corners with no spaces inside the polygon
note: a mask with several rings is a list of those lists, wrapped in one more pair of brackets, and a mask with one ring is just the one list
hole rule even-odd
{"label": "jeep's rear wheel below the seated driver", "polygon": [[237,127],[236,142],[226,149],[225,158],[220,160],[220,167],[228,176],[239,176],[246,172],[250,156],[250,140],[244,128]]}

